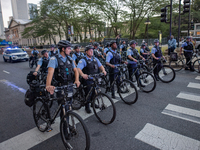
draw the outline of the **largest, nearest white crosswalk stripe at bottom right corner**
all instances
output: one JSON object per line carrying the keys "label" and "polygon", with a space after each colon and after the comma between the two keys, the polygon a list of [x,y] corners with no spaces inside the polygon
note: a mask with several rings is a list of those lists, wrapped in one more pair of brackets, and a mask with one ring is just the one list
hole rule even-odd
{"label": "largest, nearest white crosswalk stripe at bottom right corner", "polygon": [[147,123],[136,139],[162,150],[199,150],[200,141]]}

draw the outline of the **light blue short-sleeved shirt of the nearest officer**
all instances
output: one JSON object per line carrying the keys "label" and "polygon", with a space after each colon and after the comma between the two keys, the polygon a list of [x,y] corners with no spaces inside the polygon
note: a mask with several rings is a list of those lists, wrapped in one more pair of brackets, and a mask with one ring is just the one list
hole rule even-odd
{"label": "light blue short-sleeved shirt of the nearest officer", "polygon": [[[61,54],[58,54],[58,57],[65,63],[67,60],[67,57],[63,57]],[[72,67],[73,69],[76,68],[74,61],[72,60],[72,58],[70,56],[68,56],[71,59],[72,62]],[[69,61],[69,60],[68,60]],[[52,68],[58,68],[58,60],[55,56],[51,57],[51,59],[49,60],[49,64],[47,66],[47,68],[52,67]]]}

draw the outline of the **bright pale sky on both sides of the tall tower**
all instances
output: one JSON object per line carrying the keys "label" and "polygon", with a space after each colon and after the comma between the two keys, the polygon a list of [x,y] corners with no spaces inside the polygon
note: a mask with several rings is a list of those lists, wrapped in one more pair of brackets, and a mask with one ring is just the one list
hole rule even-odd
{"label": "bright pale sky on both sides of the tall tower", "polygon": [[[0,0],[1,1],[1,10],[3,14],[4,27],[8,27],[9,17],[12,16],[12,5],[11,0]],[[27,3],[33,3],[39,5],[41,0],[27,0]]]}

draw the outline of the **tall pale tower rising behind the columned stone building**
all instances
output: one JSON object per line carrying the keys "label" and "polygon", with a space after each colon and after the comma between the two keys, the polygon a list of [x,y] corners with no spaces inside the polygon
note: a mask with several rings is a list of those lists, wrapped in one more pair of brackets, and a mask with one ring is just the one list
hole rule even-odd
{"label": "tall pale tower rising behind the columned stone building", "polygon": [[13,18],[28,19],[27,0],[11,0]]}

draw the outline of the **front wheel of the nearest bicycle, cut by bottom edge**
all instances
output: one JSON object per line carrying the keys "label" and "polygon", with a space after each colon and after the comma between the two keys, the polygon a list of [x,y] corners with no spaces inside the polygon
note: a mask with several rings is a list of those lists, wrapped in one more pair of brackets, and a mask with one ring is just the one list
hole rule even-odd
{"label": "front wheel of the nearest bicycle, cut by bottom edge", "polygon": [[83,119],[69,111],[61,119],[60,134],[67,150],[89,150],[90,135]]}

